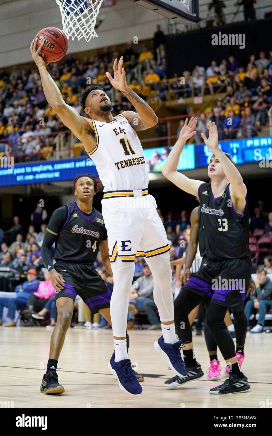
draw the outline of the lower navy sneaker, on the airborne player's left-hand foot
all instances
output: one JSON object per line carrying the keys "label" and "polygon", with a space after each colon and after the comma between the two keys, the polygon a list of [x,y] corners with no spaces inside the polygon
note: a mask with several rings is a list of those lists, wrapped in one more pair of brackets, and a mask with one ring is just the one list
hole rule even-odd
{"label": "lower navy sneaker, on the airborne player's left-hand foot", "polygon": [[119,386],[122,391],[130,395],[139,395],[143,392],[142,386],[139,384],[133,369],[131,368],[131,361],[129,359],[114,361],[115,353],[109,361],[109,371],[116,376]]}

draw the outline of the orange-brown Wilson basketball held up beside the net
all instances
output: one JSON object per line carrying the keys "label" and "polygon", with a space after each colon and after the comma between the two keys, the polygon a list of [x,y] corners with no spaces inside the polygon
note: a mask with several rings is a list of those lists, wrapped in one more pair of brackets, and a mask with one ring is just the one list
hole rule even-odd
{"label": "orange-brown Wilson basketball held up beside the net", "polygon": [[44,43],[40,56],[47,62],[60,61],[68,50],[68,38],[57,27],[45,27],[37,33],[37,48]]}

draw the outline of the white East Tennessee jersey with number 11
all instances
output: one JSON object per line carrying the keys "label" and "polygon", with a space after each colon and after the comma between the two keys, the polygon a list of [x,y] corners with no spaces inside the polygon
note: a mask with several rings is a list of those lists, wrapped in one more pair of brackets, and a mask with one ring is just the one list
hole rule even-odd
{"label": "white East Tennessee jersey with number 11", "polygon": [[88,153],[95,163],[104,191],[133,191],[148,187],[143,147],[136,131],[122,114],[109,123],[92,125],[96,146]]}

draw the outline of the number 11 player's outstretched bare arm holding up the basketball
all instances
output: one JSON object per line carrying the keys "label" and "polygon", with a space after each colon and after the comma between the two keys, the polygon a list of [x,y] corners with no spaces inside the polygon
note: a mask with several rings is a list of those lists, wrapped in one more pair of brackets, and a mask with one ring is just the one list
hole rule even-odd
{"label": "number 11 player's outstretched bare arm holding up the basketball", "polygon": [[31,42],[30,51],[41,76],[41,84],[45,98],[56,114],[60,117],[62,123],[64,123],[68,129],[71,129],[79,140],[83,141],[85,133],[90,131],[90,126],[88,122],[85,121],[84,117],[80,116],[75,109],[71,108],[71,106],[67,105],[63,100],[58,86],[55,84],[46,69],[48,63],[39,56],[42,47],[43,44],[41,44],[37,49],[36,38],[36,40]]}

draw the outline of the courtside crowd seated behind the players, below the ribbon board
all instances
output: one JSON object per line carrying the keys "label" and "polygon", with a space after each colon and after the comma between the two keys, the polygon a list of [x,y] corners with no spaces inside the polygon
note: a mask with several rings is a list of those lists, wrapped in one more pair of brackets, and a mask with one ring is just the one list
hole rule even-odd
{"label": "courtside crowd seated behind the players, below the ribbon board", "polygon": [[[183,210],[180,216],[175,216],[169,211],[165,218],[160,209],[157,209],[170,244],[170,265],[173,273],[172,292],[175,298],[182,286],[183,269],[178,269],[176,260],[184,258],[188,242],[190,241],[190,214]],[[3,307],[7,307],[7,317],[10,321],[5,324],[13,327],[16,324],[15,312],[20,310],[21,320],[27,320],[24,325],[32,326],[39,320],[44,322],[50,318],[49,326],[54,326],[57,310],[54,302],[54,288],[50,275],[44,268],[41,259],[41,244],[46,231],[47,212],[38,203],[30,216],[31,225],[28,232],[24,233],[18,217],[14,217],[14,225],[8,230],[0,229],[0,272],[2,269],[11,268],[20,275],[19,283],[12,289],[4,286],[4,279],[0,274],[0,291],[13,291],[16,298],[7,298],[7,294],[0,295],[0,325],[2,324]],[[254,214],[249,219],[250,250],[252,253],[252,272],[257,272],[256,291],[248,295],[246,314],[250,318],[252,311],[259,310],[259,319],[256,332],[262,331],[265,323],[265,313],[272,303],[272,283],[268,275],[272,274],[272,211],[263,209],[263,201],[259,200],[254,208]],[[53,247],[54,249],[54,247]],[[197,258],[200,266],[201,257]],[[102,257],[99,253],[95,261],[95,269],[105,280],[112,292],[113,278],[105,270]],[[198,268],[199,268],[198,266]],[[193,271],[194,272],[194,271]],[[8,279],[5,279],[8,281]],[[261,301],[263,300],[263,301]],[[76,300],[78,318],[76,327],[107,327],[107,321],[96,314],[93,319],[88,307],[83,300]],[[136,257],[135,272],[129,296],[129,313],[127,328],[131,329],[136,323],[138,313],[145,313],[150,330],[160,328],[160,320],[156,304],[153,299],[153,277],[144,257]],[[261,327],[260,327],[261,326]],[[257,331],[258,330],[258,331]],[[255,331],[254,331],[255,333]]]}

